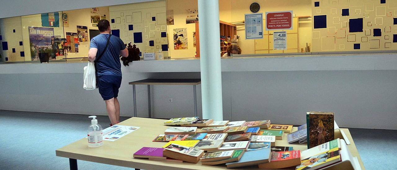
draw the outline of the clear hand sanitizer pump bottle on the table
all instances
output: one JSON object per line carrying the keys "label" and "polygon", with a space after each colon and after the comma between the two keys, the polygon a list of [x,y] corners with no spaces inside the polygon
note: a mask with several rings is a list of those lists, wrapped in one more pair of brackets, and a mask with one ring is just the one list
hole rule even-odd
{"label": "clear hand sanitizer pump bottle on the table", "polygon": [[93,118],[91,125],[88,127],[88,147],[96,148],[103,145],[102,126],[98,124],[96,116],[89,116]]}

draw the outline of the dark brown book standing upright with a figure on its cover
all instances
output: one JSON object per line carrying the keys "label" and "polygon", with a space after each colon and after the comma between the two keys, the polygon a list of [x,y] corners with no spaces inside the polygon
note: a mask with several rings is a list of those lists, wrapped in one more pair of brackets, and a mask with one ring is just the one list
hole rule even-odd
{"label": "dark brown book standing upright with a figure on its cover", "polygon": [[333,112],[307,112],[307,148],[332,141],[334,138]]}

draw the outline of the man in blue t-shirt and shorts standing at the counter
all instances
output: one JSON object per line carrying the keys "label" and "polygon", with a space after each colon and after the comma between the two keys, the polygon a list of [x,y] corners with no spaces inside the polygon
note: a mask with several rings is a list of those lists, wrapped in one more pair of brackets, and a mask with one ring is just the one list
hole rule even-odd
{"label": "man in blue t-shirt and shorts standing at the counter", "polygon": [[[120,105],[117,99],[121,85],[121,63],[119,56],[127,57],[128,50],[119,37],[111,36],[110,23],[106,19],[98,22],[100,34],[91,39],[88,60],[94,62],[104,51],[102,57],[96,60],[97,83],[99,93],[106,103],[106,111],[110,126],[120,122]],[[105,49],[108,38],[108,47]]]}

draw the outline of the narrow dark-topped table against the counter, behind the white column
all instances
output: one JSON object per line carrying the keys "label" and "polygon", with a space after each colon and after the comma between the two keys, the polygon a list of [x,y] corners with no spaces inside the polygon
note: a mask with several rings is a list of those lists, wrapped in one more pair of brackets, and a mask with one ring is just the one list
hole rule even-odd
{"label": "narrow dark-topped table against the counter, behind the white column", "polygon": [[201,79],[143,79],[138,81],[131,81],[128,84],[132,85],[134,98],[134,117],[137,117],[137,99],[135,96],[135,85],[148,85],[148,108],[149,118],[151,115],[150,107],[150,85],[193,85],[193,99],[195,104],[195,117],[197,117],[197,95],[196,85],[201,83]]}

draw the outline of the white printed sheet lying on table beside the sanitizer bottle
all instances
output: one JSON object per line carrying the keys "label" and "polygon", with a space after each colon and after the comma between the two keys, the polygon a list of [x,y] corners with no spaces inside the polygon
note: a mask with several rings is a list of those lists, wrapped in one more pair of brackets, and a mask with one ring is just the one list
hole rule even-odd
{"label": "white printed sheet lying on table beside the sanitizer bottle", "polygon": [[128,133],[131,133],[139,128],[140,127],[135,127],[135,126],[113,125],[106,129],[103,129],[103,131],[102,131],[103,140],[116,141],[120,137],[123,137],[123,136],[127,135]]}

